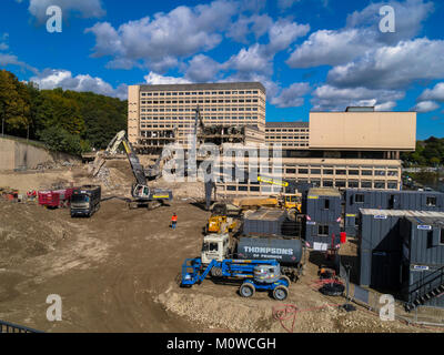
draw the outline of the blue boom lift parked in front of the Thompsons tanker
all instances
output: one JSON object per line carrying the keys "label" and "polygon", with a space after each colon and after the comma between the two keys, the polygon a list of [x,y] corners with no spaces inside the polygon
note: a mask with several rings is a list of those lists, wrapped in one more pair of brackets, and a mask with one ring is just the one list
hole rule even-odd
{"label": "blue boom lift parked in front of the Thompsons tanker", "polygon": [[206,265],[200,257],[188,258],[182,265],[181,287],[201,284],[209,274],[219,280],[243,280],[239,288],[242,297],[252,297],[255,291],[272,292],[278,301],[284,301],[289,295],[290,280],[281,274],[275,260],[212,260]]}

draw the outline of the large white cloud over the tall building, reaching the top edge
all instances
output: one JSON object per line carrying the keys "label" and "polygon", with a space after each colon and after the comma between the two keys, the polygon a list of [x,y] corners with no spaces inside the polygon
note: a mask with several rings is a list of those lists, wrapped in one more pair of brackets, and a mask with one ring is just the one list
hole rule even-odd
{"label": "large white cloud over the tall building, reaching the top edge", "polygon": [[169,13],[130,21],[118,29],[101,22],[85,32],[95,36],[93,55],[113,57],[113,68],[124,63],[128,69],[131,63],[141,61],[152,70],[165,71],[178,59],[219,45],[221,31],[226,29],[235,12],[233,2],[218,0],[194,8],[181,6]]}

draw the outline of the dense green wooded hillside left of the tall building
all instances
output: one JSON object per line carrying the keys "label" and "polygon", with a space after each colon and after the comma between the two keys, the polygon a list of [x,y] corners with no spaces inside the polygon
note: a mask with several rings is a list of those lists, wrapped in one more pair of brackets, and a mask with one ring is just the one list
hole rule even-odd
{"label": "dense green wooded hillside left of the tall building", "polygon": [[127,130],[128,101],[92,92],[39,90],[0,70],[0,133],[29,138],[80,155],[107,148]]}

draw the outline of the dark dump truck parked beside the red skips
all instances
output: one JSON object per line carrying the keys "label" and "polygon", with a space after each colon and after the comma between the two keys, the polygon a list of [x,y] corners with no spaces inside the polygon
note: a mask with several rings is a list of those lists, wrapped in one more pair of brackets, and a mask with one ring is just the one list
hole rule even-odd
{"label": "dark dump truck parked beside the red skips", "polygon": [[71,217],[91,217],[100,209],[101,193],[101,186],[97,185],[75,189],[71,196]]}

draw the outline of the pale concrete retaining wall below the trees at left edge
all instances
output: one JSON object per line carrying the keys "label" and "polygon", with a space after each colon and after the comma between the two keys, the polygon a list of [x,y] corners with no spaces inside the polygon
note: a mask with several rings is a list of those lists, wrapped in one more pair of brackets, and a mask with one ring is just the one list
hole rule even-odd
{"label": "pale concrete retaining wall below the trees at left edge", "polygon": [[0,171],[36,169],[39,164],[65,161],[77,163],[80,160],[69,154],[54,153],[43,148],[0,138]]}

